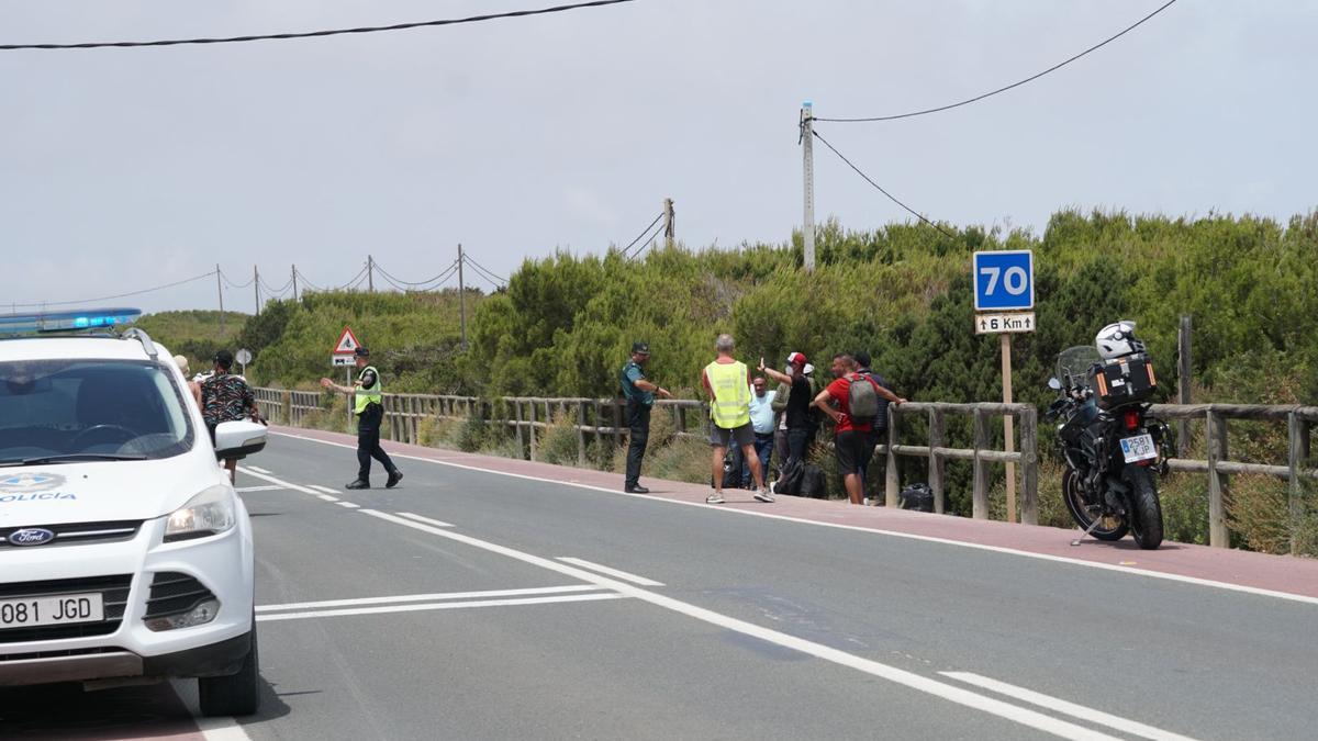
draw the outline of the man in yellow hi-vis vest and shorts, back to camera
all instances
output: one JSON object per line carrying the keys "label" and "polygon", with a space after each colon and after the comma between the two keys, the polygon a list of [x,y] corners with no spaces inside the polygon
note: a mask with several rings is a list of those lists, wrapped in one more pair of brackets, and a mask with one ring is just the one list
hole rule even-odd
{"label": "man in yellow hi-vis vest and shorts, back to camera", "polygon": [[714,448],[714,493],[705,497],[705,502],[724,504],[724,456],[729,442],[742,450],[742,460],[750,465],[755,498],[771,502],[774,497],[764,487],[764,472],[755,455],[755,430],[750,423],[750,368],[733,357],[735,344],[731,335],[718,335],[714,349],[718,357],[700,374],[700,385],[709,393],[709,444]]}

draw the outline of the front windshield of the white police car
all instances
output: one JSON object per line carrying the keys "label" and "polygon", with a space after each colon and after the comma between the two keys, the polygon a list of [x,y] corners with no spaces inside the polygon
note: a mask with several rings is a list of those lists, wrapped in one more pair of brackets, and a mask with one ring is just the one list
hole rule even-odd
{"label": "front windshield of the white police car", "polygon": [[4,361],[0,464],[171,458],[192,447],[186,409],[157,363]]}

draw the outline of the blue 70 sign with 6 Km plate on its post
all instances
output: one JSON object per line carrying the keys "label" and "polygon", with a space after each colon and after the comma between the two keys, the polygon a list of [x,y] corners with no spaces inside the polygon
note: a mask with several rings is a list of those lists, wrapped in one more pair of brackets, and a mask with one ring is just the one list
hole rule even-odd
{"label": "blue 70 sign with 6 Km plate on its post", "polygon": [[[975,286],[977,335],[998,335],[1002,343],[1002,402],[1011,403],[1011,335],[1033,332],[1035,254],[1028,251],[977,252],[971,264]],[[1016,451],[1015,418],[1002,415],[1003,450]],[[1007,463],[1007,522],[1016,522],[1016,464]]]}

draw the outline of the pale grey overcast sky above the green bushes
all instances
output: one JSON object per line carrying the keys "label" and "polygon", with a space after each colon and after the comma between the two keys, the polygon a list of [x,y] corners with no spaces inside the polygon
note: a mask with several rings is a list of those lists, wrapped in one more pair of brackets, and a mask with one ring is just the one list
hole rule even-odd
{"label": "pale grey overcast sky above the green bushes", "polygon": [[[253,266],[319,286],[370,254],[402,281],[461,243],[496,277],[677,239],[734,249],[801,224],[803,100],[875,116],[1046,69],[1164,0],[635,0],[397,33],[0,51],[0,254],[11,306]],[[384,25],[558,0],[0,0],[0,44]],[[1318,207],[1318,1],[1180,0],[1031,84],[892,123],[820,123],[932,219],[1032,228],[1060,208],[1289,219]],[[816,214],[911,216],[816,146]],[[468,281],[490,287],[478,277]],[[306,285],[306,283],[304,283]],[[386,285],[377,276],[377,289]],[[3,301],[3,299],[0,299]],[[215,277],[111,303],[216,309]],[[252,311],[250,286],[224,289]],[[3,305],[0,305],[3,306]],[[0,309],[0,311],[5,311]]]}

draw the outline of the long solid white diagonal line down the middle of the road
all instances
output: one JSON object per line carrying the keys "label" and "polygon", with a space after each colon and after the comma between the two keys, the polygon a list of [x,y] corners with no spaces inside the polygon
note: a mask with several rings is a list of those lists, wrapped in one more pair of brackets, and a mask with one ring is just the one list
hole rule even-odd
{"label": "long solid white diagonal line down the middle of the road", "polygon": [[[472,538],[471,535],[463,535],[461,533],[453,533],[451,530],[442,530],[439,527],[431,527],[428,525],[422,525],[420,522],[414,522],[411,519],[405,519],[402,517],[395,517],[395,516],[389,514],[389,513],[377,512],[377,510],[373,510],[373,509],[362,509],[360,512],[361,512],[361,514],[369,514],[372,517],[384,519],[386,522],[393,522],[395,525],[402,525],[405,527],[413,527],[413,529],[420,530],[423,533],[430,533],[431,535],[438,535],[440,538],[448,538],[449,541],[456,541],[459,543],[465,543],[468,546],[472,546],[472,547],[476,547],[476,548],[481,548],[481,550],[485,550],[485,551],[489,551],[489,552],[505,555],[507,558],[517,559],[517,560],[521,560],[523,563],[530,563],[532,566],[539,566],[539,567],[547,568],[550,571],[556,571],[556,572],[563,574],[565,576],[573,576],[573,578],[580,579],[583,581],[598,584],[600,587],[606,587],[606,588],[613,589],[613,591],[616,591],[616,592],[618,592],[618,593],[621,593],[623,596],[637,597],[638,600],[650,603],[652,605],[662,607],[664,609],[670,609],[670,610],[680,613],[680,614],[685,614],[688,617],[693,617],[696,620],[708,622],[710,625],[716,625],[718,628],[724,628],[726,630],[735,630],[737,633],[742,633],[743,636],[750,636],[753,638],[759,638],[762,641],[767,641],[770,643],[776,643],[776,645],[783,646],[786,649],[792,649],[792,650],[800,651],[803,654],[808,654],[808,655],[812,655],[812,657],[816,657],[816,658],[821,658],[824,661],[828,661],[828,662],[832,662],[832,663],[836,663],[836,665],[840,665],[840,666],[845,666],[845,667],[849,667],[849,668],[854,668],[857,671],[862,671],[865,674],[870,674],[870,675],[878,676],[880,679],[887,679],[888,682],[894,682],[896,684],[902,684],[904,687],[909,687],[911,690],[916,690],[919,692],[925,692],[925,694],[933,695],[936,697],[942,697],[944,700],[949,700],[952,703],[957,703],[957,704],[961,704],[961,705],[965,705],[965,707],[969,707],[969,708],[983,711],[986,713],[995,715],[998,717],[1007,719],[1007,720],[1019,723],[1021,725],[1027,725],[1029,728],[1044,730],[1046,733],[1052,733],[1052,734],[1060,736],[1062,738],[1086,740],[1086,741],[1089,741],[1089,740],[1104,740],[1104,741],[1107,741],[1107,740],[1115,740],[1116,738],[1115,736],[1107,736],[1104,733],[1099,733],[1097,730],[1091,730],[1089,728],[1083,728],[1083,726],[1075,725],[1073,723],[1068,723],[1065,720],[1058,720],[1058,719],[1046,716],[1044,713],[1040,713],[1040,712],[1036,712],[1036,711],[1031,711],[1028,708],[1021,708],[1021,707],[1017,707],[1017,705],[1012,705],[1010,703],[1004,703],[1002,700],[996,700],[996,699],[988,697],[986,695],[979,695],[979,694],[971,692],[969,690],[963,690],[961,687],[957,687],[957,686],[953,686],[953,684],[948,684],[945,682],[940,682],[937,679],[932,679],[932,678],[928,678],[928,676],[921,676],[919,674],[915,674],[915,672],[911,672],[911,671],[905,671],[903,668],[898,668],[898,667],[894,667],[894,666],[879,663],[876,661],[871,661],[871,659],[866,659],[866,658],[862,658],[862,657],[858,657],[858,655],[854,655],[854,654],[849,654],[846,651],[832,649],[832,647],[825,646],[822,643],[816,643],[813,641],[807,641],[804,638],[797,638],[796,636],[788,636],[787,633],[780,633],[778,630],[771,630],[768,628],[762,628],[762,626],[755,625],[753,622],[746,622],[745,620],[737,620],[735,617],[729,617],[726,614],[721,614],[721,613],[717,613],[717,612],[713,612],[713,610],[709,610],[709,609],[705,609],[705,608],[701,608],[701,607],[697,607],[697,605],[693,605],[693,604],[689,604],[689,603],[675,600],[672,597],[666,597],[666,596],[659,595],[656,592],[651,592],[648,589],[642,589],[639,587],[635,587],[633,584],[627,584],[625,581],[617,581],[617,580],[613,580],[613,579],[608,579],[608,578],[600,576],[600,575],[597,575],[597,574],[594,574],[592,571],[585,571],[585,570],[581,570],[581,568],[577,568],[577,567],[573,567],[573,566],[567,566],[567,564],[559,563],[556,560],[551,560],[551,559],[547,559],[547,558],[540,558],[540,556],[536,556],[536,555],[522,552],[522,551],[518,551],[518,550],[514,550],[514,548],[510,548],[510,547],[506,547],[506,546],[500,546],[497,543],[490,543],[488,541],[481,541],[478,538]],[[258,620],[261,620],[261,618],[258,618]]]}

